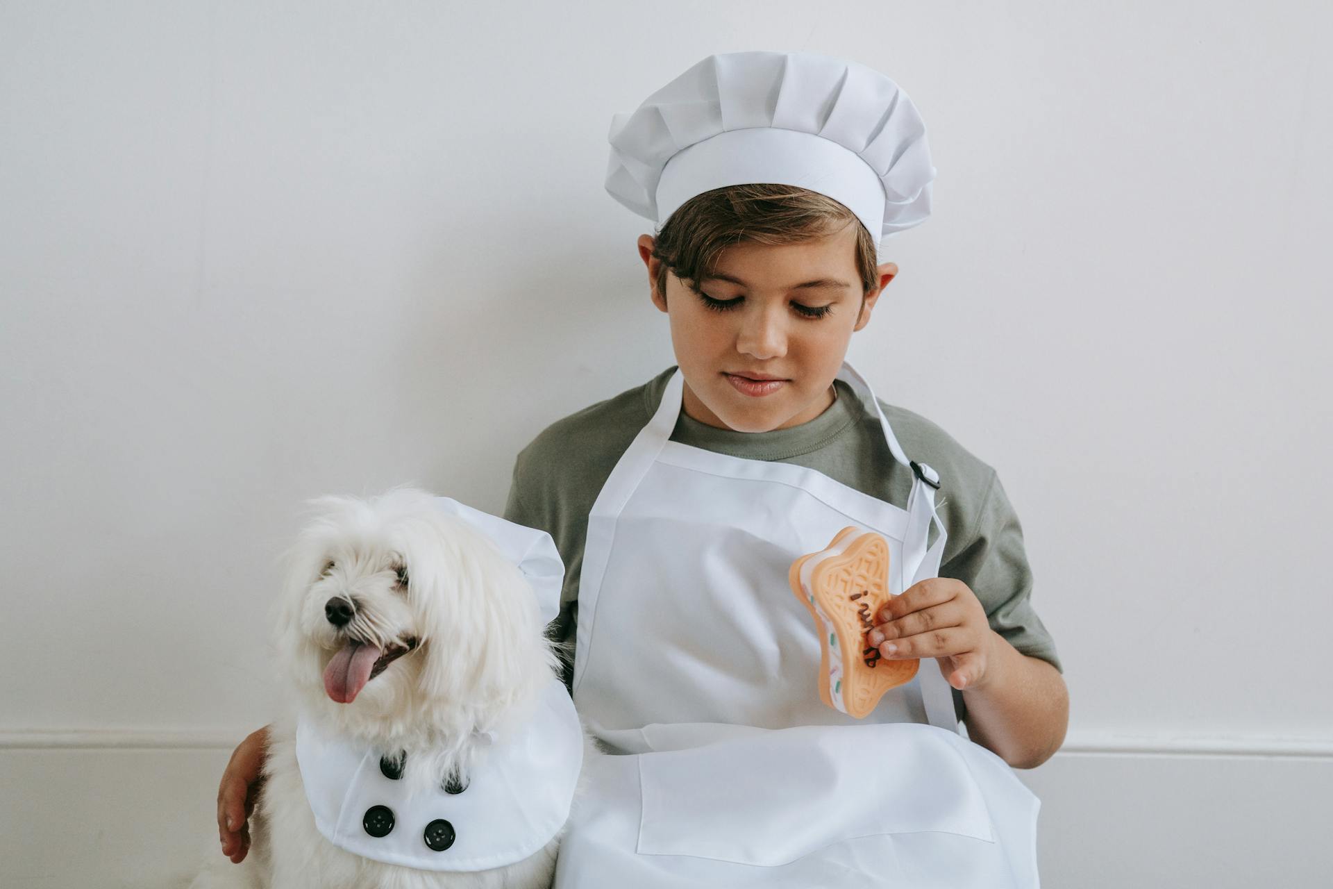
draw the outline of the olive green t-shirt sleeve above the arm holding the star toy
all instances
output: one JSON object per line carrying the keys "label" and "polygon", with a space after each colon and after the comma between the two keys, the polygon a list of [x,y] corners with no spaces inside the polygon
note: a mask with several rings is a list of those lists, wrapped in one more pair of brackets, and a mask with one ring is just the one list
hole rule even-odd
{"label": "olive green t-shirt sleeve above the arm holding the star toy", "polygon": [[940,576],[965,582],[986,609],[990,629],[1018,652],[1064,672],[1056,642],[1032,606],[1032,568],[1022,545],[1022,525],[993,470],[972,540],[940,566]]}

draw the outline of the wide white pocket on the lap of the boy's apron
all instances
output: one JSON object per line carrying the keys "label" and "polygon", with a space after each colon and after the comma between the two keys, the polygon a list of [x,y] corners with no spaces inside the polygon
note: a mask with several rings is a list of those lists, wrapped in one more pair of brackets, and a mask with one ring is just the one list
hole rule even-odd
{"label": "wide white pocket on the lap of the boy's apron", "polygon": [[844,840],[942,832],[993,842],[956,746],[908,722],[797,726],[639,754],[640,854],[778,866]]}

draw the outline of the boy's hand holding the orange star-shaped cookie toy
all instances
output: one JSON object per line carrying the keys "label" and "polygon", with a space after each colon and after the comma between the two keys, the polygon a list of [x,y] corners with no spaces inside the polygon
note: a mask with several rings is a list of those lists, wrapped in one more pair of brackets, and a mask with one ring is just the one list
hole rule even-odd
{"label": "boy's hand holding the orange star-shaped cookie toy", "polygon": [[952,577],[932,577],[893,596],[877,614],[866,640],[886,658],[933,657],[956,689],[986,682],[986,668],[1001,637],[990,629],[981,600]]}

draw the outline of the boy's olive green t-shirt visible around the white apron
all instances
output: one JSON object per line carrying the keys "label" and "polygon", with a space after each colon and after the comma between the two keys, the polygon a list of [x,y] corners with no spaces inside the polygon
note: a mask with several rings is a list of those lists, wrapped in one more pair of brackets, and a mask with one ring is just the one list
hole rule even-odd
{"label": "boy's olive green t-shirt visible around the white apron", "polygon": [[[549,533],[565,562],[560,614],[548,632],[564,644],[567,685],[588,513],[629,443],[656,413],[674,371],[666,368],[645,385],[557,420],[515,461],[505,518]],[[905,509],[912,469],[893,458],[878,417],[864,409],[850,387],[836,380],[834,392],[836,400],[820,416],[773,432],[721,429],[682,411],[670,440],[733,457],[806,466]],[[1022,526],[996,470],[925,417],[882,400],[880,407],[908,458],[940,473],[936,510],[948,533],[940,577],[965,582],[981,600],[990,626],[1010,645],[1062,670],[1054,641],[1032,608]],[[933,525],[930,530],[933,542]]]}

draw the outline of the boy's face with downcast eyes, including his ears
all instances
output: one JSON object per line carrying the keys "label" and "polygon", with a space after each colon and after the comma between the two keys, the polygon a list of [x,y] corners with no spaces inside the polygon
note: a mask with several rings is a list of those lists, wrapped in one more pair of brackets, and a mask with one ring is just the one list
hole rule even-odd
{"label": "boy's face with downcast eyes, including his ears", "polygon": [[[878,289],[862,307],[856,228],[848,225],[800,244],[736,244],[722,252],[714,277],[698,283],[698,293],[668,272],[663,295],[652,248],[651,235],[639,239],[653,304],[670,317],[685,377],[682,408],[700,423],[737,432],[786,429],[824,413],[852,332],[869,323],[898,271],[893,263],[880,265]],[[776,381],[756,383],[756,376]]]}

